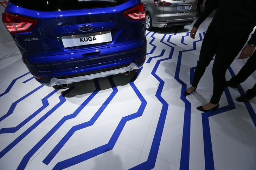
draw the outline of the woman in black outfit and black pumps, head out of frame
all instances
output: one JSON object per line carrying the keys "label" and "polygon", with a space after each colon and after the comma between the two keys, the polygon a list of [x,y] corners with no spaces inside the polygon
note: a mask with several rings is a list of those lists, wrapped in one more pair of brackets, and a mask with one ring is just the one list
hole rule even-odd
{"label": "woman in black outfit and black pumps, head out of frame", "polygon": [[[191,38],[194,39],[200,24],[217,8],[201,46],[192,86],[184,92],[184,95],[190,95],[196,90],[206,67],[215,55],[212,68],[213,95],[211,101],[198,107],[198,110],[211,111],[219,107],[219,100],[226,84],[226,70],[243,48],[255,27],[256,1],[240,2],[239,0],[210,0],[190,32]],[[237,4],[239,4],[239,8]],[[252,35],[248,45],[243,48],[241,56],[250,56],[255,49],[255,44],[256,33]]]}

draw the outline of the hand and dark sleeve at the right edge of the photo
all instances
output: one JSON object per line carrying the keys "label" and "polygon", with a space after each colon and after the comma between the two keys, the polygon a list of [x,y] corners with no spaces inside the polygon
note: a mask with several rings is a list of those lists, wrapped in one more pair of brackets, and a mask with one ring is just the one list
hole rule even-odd
{"label": "hand and dark sleeve at the right edge of the photo", "polygon": [[255,46],[256,46],[256,30],[251,35],[251,39],[248,41],[247,45],[244,46],[244,48],[242,49],[242,52],[238,57],[238,59],[246,59],[250,57],[255,50]]}

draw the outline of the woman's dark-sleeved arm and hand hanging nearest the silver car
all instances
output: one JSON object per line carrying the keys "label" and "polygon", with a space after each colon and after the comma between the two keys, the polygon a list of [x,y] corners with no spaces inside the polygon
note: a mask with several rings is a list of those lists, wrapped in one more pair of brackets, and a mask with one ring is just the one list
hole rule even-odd
{"label": "woman's dark-sleeved arm and hand hanging nearest the silver car", "polygon": [[204,20],[213,12],[214,9],[218,7],[218,5],[219,5],[219,0],[210,0],[209,4],[207,4],[203,13],[199,16],[197,21],[194,23],[193,28],[191,29],[190,37],[192,39],[195,38],[199,25],[202,22],[204,22]]}

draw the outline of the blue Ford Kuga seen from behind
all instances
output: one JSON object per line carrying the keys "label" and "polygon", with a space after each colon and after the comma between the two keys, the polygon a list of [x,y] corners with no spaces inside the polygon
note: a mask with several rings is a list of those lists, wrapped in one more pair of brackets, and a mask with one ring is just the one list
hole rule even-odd
{"label": "blue Ford Kuga seen from behind", "polygon": [[146,9],[140,0],[9,0],[2,20],[45,86],[139,69]]}

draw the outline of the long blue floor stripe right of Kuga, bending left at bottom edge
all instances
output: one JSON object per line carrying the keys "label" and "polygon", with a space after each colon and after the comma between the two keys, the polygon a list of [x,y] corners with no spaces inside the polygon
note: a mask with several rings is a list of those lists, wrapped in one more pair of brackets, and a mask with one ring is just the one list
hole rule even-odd
{"label": "long blue floor stripe right of Kuga, bending left at bottom edge", "polygon": [[[176,34],[176,33],[175,33]],[[175,35],[174,34],[174,35]],[[169,36],[169,38],[172,35]],[[141,170],[141,169],[153,169],[155,166],[155,162],[156,162],[156,157],[158,155],[158,150],[159,150],[159,146],[160,146],[160,142],[161,142],[161,137],[162,137],[162,132],[164,130],[164,125],[165,125],[165,119],[166,119],[166,115],[167,115],[167,110],[168,110],[168,103],[164,100],[164,98],[162,98],[161,93],[162,90],[164,88],[164,84],[165,82],[156,74],[156,71],[159,67],[160,62],[165,61],[165,60],[170,60],[172,59],[173,56],[173,52],[174,52],[174,47],[168,45],[167,43],[164,42],[164,39],[166,37],[166,34],[163,36],[163,38],[160,40],[160,42],[164,43],[165,45],[171,47],[171,52],[169,54],[169,56],[165,59],[160,59],[156,62],[151,74],[156,78],[156,80],[159,81],[159,86],[158,89],[156,91],[156,98],[158,98],[158,100],[161,102],[162,104],[162,109],[161,109],[161,113],[159,116],[159,120],[158,120],[158,124],[155,130],[155,135],[153,138],[153,142],[151,145],[151,149],[149,151],[149,155],[148,155],[148,159],[146,162],[143,162],[137,166],[134,166],[131,169],[137,169],[137,170]]]}

